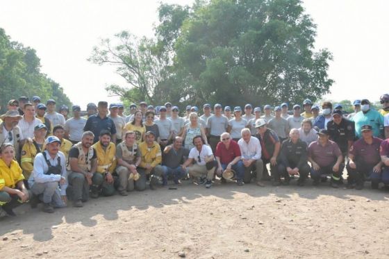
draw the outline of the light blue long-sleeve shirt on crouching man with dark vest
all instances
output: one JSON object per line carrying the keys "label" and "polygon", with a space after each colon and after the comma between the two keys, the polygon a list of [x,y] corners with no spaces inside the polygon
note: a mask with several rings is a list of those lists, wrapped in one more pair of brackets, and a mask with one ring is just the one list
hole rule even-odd
{"label": "light blue long-sleeve shirt on crouching man with dark vest", "polygon": [[34,183],[48,183],[48,182],[59,182],[61,176],[66,179],[64,184],[60,184],[60,192],[61,195],[66,195],[67,188],[67,172],[66,172],[66,162],[65,155],[58,151],[54,158],[51,158],[48,151],[44,151],[46,153],[47,160],[49,160],[50,164],[55,167],[58,165],[58,157],[60,158],[61,165],[61,174],[45,174],[49,171],[49,165],[47,165],[46,160],[44,160],[43,153],[38,153],[35,156],[33,172],[28,179],[28,185],[33,186]]}

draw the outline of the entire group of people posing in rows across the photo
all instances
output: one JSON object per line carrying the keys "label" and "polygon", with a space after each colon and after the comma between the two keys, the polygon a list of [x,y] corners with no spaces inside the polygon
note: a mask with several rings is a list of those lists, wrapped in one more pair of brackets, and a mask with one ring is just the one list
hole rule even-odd
{"label": "entire group of people posing in rows across the photo", "polygon": [[[246,104],[231,108],[220,103],[187,106],[185,115],[172,103],[148,106],[141,102],[124,115],[122,103],[88,103],[69,108],[40,97],[10,100],[0,116],[0,215],[29,202],[42,203],[44,212],[67,206],[82,207],[100,195],[133,190],[156,190],[192,178],[212,187],[215,181],[238,186],[288,185],[297,179],[313,185],[330,179],[361,190],[366,180],[377,189],[389,185],[389,95],[383,108],[367,99],[354,101],[347,117],[340,104],[309,99],[272,108]],[[213,110],[213,112],[212,112]],[[302,111],[304,110],[304,111]],[[321,112],[320,112],[321,111]],[[386,140],[384,140],[386,139]],[[268,168],[269,167],[269,168]],[[270,170],[269,170],[270,169]],[[68,201],[69,200],[69,201]]]}

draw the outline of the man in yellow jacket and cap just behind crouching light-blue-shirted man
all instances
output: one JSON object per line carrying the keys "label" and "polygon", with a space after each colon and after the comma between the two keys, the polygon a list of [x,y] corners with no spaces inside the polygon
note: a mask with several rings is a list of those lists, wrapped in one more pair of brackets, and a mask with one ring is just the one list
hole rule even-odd
{"label": "man in yellow jacket and cap just behind crouching light-blue-shirted man", "polygon": [[34,137],[32,141],[26,141],[22,147],[22,158],[20,167],[23,169],[23,175],[26,181],[33,172],[35,156],[44,150],[44,137],[47,134],[47,127],[44,124],[38,124],[34,128]]}

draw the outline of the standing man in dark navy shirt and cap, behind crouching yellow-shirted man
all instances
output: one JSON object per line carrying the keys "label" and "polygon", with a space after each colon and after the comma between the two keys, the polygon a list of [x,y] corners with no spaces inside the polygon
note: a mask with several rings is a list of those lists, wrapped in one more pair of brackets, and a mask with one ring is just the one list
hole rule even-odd
{"label": "standing man in dark navy shirt and cap, behind crouching yellow-shirted man", "polygon": [[92,131],[94,134],[94,143],[99,141],[101,131],[110,132],[110,140],[116,143],[116,127],[111,118],[107,117],[108,103],[106,101],[99,101],[97,104],[97,115],[90,115],[87,119],[84,131]]}

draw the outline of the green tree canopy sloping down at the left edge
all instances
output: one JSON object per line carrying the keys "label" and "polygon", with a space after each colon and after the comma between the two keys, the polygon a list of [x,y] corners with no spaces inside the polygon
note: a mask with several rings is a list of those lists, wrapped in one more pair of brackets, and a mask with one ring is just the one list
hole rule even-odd
{"label": "green tree canopy sloping down at the left edge", "polygon": [[38,95],[42,101],[55,99],[71,106],[69,98],[58,83],[40,72],[40,59],[35,49],[13,42],[0,28],[0,103],[6,111],[10,99]]}

